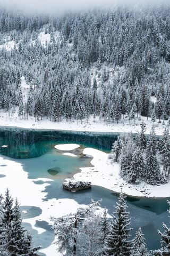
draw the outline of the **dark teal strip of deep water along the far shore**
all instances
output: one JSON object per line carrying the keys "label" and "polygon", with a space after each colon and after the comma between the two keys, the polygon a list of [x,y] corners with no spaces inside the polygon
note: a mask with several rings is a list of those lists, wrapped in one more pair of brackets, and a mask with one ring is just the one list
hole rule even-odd
{"label": "dark teal strip of deep water along the far shore", "polygon": [[[0,154],[15,159],[44,155],[56,144],[78,143],[109,152],[118,133],[42,131],[1,127]],[[1,146],[8,145],[7,148]]]}

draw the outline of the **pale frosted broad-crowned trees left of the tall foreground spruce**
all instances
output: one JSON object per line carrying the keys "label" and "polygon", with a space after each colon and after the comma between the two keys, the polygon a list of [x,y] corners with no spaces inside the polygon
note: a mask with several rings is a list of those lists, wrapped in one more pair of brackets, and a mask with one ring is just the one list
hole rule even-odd
{"label": "pale frosted broad-crowned trees left of the tall foreground spruce", "polygon": [[51,220],[54,222],[54,235],[57,236],[58,251],[66,255],[102,255],[104,252],[101,217],[95,215],[99,201],[92,201],[85,209],[79,208],[76,213]]}

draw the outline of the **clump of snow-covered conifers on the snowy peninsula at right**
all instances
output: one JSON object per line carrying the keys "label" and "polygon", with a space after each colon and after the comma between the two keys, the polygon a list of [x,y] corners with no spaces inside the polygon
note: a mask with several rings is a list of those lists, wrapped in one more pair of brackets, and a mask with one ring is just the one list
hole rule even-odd
{"label": "clump of snow-covered conifers on the snowy peninsula at right", "polygon": [[[151,185],[166,183],[170,173],[170,135],[165,129],[161,139],[157,139],[154,126],[149,137],[145,135],[145,123],[137,135],[124,134],[113,143],[113,161],[120,163],[120,175],[129,183],[142,180]],[[159,159],[159,160],[158,160]],[[160,165],[163,166],[162,172]]]}

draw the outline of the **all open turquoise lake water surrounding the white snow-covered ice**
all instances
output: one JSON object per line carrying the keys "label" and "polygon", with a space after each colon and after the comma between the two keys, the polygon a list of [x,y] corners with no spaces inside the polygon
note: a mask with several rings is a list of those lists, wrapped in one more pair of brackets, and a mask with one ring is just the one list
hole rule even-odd
{"label": "all open turquoise lake water surrounding the white snow-covered ice", "polygon": [[[73,174],[79,171],[79,167],[91,166],[91,158],[81,155],[83,147],[90,146],[109,151],[117,135],[117,133],[30,131],[4,127],[0,130],[0,154],[13,157],[15,162],[21,163],[23,170],[28,172],[29,179],[51,179],[46,181],[49,186],[44,190],[47,193],[46,197],[43,198],[44,201],[52,198],[70,198],[79,204],[89,204],[91,198],[95,201],[102,198],[101,206],[106,207],[108,213],[112,214],[115,211],[114,205],[116,205],[117,196],[111,190],[93,186],[89,190],[70,193],[62,189],[62,182],[65,178],[72,178]],[[77,157],[62,155],[62,151],[54,148],[58,143],[79,143],[81,148],[71,152]],[[8,147],[2,148],[2,145],[8,145]],[[44,181],[40,179],[35,183],[37,185],[43,184]],[[133,227],[132,237],[135,231],[142,227],[148,249],[158,249],[160,237],[157,234],[157,229],[162,230],[163,221],[167,224],[169,222],[166,211],[168,209],[167,199],[142,198],[139,200],[131,197],[127,199],[131,226]],[[23,209],[27,210],[27,207],[31,212],[29,218],[38,216],[41,212],[41,209],[32,206],[24,206]],[[23,214],[23,218],[28,218],[26,215]],[[47,222],[38,220],[36,226],[46,229],[45,233],[40,235],[36,230],[31,230],[36,244],[43,244],[44,247],[49,246],[54,238],[50,226]],[[28,223],[25,224],[25,227],[31,229]]]}

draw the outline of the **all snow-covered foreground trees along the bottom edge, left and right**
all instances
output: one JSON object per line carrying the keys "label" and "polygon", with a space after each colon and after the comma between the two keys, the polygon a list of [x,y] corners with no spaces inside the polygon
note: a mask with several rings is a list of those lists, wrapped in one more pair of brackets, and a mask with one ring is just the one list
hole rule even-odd
{"label": "all snow-covered foreground trees along the bottom edge, left and right", "polygon": [[[169,202],[168,202],[169,204]],[[19,202],[7,189],[0,195],[0,254],[1,256],[40,256],[41,248],[31,247],[32,237],[22,227]],[[100,209],[100,201],[91,201],[85,208],[60,218],[51,217],[54,235],[57,236],[57,251],[62,255],[75,256],[162,256],[169,255],[169,228],[163,223],[164,233],[158,230],[161,247],[148,251],[141,228],[131,237],[129,212],[125,195],[121,192],[114,206],[113,218],[108,218],[107,209]],[[168,210],[170,213],[170,210]],[[58,254],[56,254],[58,255]],[[61,255],[61,254],[60,254]]]}

